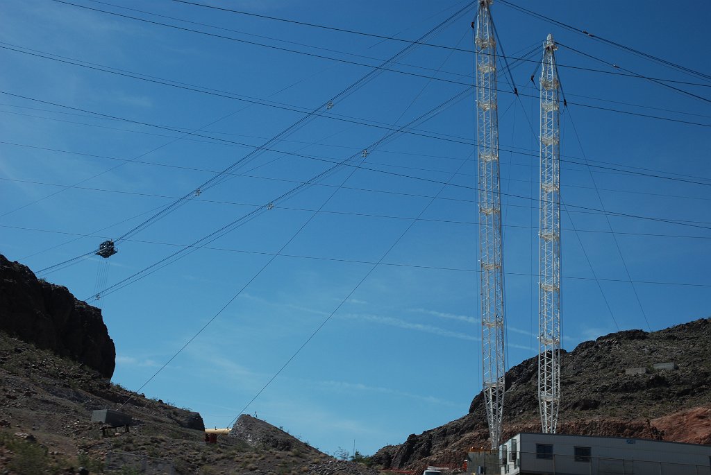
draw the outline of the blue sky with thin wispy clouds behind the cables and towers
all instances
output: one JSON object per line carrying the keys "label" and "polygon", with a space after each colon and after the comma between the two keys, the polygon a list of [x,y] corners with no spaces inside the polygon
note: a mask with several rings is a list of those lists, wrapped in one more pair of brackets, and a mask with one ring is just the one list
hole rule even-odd
{"label": "blue sky with thin wispy clouds behind the cables and towers", "polygon": [[[73,3],[242,41],[51,0],[2,2],[0,90],[15,95],[0,94],[0,252],[35,271],[122,236],[407,45],[169,0],[116,2],[144,12]],[[410,40],[465,5],[210,4]],[[711,74],[706,1],[530,8]],[[558,50],[570,103],[562,119],[565,349],[618,329],[707,317],[711,82],[501,1],[493,16],[512,58],[532,52],[527,58],[540,60],[533,48],[553,33],[562,45],[706,98],[579,69],[624,72]],[[91,256],[46,278],[87,299],[102,271],[113,285],[357,154],[392,124],[471,89],[472,18],[469,11],[426,40],[465,51],[414,48],[389,67],[410,74],[380,72],[229,180],[121,241],[108,266]],[[535,355],[538,327],[538,92],[529,81],[536,65],[510,62],[520,100],[499,82],[509,366]],[[114,382],[138,389],[239,293],[142,392],[199,410],[208,426],[228,425],[338,309],[247,413],[328,452],[350,452],[355,440],[366,454],[464,415],[481,386],[473,107],[465,94],[415,133],[370,149],[363,168],[342,168],[257,212],[210,249],[105,295]],[[442,190],[443,182],[451,186]]]}

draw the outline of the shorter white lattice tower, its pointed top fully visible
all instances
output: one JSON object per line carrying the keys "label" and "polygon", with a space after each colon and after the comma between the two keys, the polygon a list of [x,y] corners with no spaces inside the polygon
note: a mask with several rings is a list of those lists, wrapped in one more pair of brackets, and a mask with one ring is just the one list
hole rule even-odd
{"label": "shorter white lattice tower, its pointed top fully visible", "polygon": [[557,46],[545,40],[540,73],[538,402],[542,432],[555,433],[560,403],[560,82]]}

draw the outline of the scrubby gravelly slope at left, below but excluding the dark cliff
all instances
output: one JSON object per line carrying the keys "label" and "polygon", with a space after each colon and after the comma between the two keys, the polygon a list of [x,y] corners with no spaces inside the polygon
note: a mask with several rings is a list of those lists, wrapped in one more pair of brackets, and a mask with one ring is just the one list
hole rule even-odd
{"label": "scrubby gravelly slope at left, below but excluding the dark cliff", "polygon": [[[130,398],[130,400],[129,400]],[[131,415],[130,432],[91,411]],[[110,383],[99,373],[0,332],[0,474],[377,475],[336,460],[263,420],[242,416],[234,437],[205,444],[198,413]]]}

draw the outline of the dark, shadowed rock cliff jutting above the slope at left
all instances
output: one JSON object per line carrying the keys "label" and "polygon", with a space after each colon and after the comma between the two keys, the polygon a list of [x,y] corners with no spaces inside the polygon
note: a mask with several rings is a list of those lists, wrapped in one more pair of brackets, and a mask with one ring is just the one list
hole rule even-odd
{"label": "dark, shadowed rock cliff jutting above the slope at left", "polygon": [[114,373],[116,349],[101,310],[1,255],[0,330],[79,361],[105,378]]}

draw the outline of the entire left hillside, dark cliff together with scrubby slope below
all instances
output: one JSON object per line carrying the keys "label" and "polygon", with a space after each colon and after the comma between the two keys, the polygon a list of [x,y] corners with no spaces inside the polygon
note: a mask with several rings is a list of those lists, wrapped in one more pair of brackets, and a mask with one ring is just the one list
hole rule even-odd
{"label": "entire left hillside, dark cliff together with scrubby slope below", "polygon": [[[0,256],[0,474],[378,473],[247,415],[205,444],[200,414],[113,384],[113,371],[101,311]],[[100,409],[131,416],[129,432],[102,431]]]}

